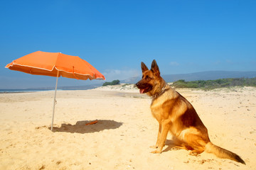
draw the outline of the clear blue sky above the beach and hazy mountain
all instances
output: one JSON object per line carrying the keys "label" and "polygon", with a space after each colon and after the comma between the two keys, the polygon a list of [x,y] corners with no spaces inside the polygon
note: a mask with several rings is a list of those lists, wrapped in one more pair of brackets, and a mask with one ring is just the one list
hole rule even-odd
{"label": "clear blue sky above the beach and hazy mountain", "polygon": [[[256,71],[256,1],[1,1],[0,89],[55,86],[5,65],[38,50],[76,55],[107,81],[141,75]],[[59,86],[99,80],[60,78]]]}

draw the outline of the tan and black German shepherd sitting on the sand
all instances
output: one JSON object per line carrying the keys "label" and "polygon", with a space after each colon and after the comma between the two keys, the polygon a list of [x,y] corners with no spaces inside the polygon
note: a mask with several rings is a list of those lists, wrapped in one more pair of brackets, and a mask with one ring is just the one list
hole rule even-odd
{"label": "tan and black German shepherd sitting on the sand", "polygon": [[196,110],[186,98],[166,84],[160,76],[156,60],[153,60],[150,70],[142,62],[142,80],[136,86],[141,94],[152,97],[151,113],[159,122],[156,145],[153,146],[156,150],[151,153],[161,153],[170,131],[177,145],[173,149],[191,150],[189,154],[195,156],[206,151],[245,164],[238,154],[210,142],[208,130]]}

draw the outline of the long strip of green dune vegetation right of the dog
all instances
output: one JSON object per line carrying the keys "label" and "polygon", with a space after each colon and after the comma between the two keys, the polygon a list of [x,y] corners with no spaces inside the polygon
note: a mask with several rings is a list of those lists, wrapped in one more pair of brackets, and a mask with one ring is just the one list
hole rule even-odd
{"label": "long strip of green dune vegetation right of the dog", "polygon": [[252,79],[235,78],[235,79],[216,79],[216,80],[198,80],[185,81],[183,79],[175,81],[172,85],[176,88],[200,88],[200,89],[217,89],[221,87],[232,86],[256,86],[256,77]]}

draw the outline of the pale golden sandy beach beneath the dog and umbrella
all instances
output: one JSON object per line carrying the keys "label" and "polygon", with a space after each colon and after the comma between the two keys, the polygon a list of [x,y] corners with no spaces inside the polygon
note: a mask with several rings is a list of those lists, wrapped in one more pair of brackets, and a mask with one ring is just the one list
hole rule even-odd
{"label": "pale golden sandy beach beneath the dog and umbrella", "polygon": [[[0,169],[256,169],[256,89],[176,89],[192,103],[220,147],[246,165],[203,152],[151,154],[158,123],[151,98],[128,86],[0,94]],[[96,124],[86,125],[97,120]]]}

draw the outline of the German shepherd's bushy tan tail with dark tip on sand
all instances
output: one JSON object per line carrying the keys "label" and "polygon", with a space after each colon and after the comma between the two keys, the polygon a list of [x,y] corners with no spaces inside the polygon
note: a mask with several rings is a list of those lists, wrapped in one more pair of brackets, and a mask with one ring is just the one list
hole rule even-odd
{"label": "German shepherd's bushy tan tail with dark tip on sand", "polygon": [[242,164],[245,164],[245,162],[238,156],[238,154],[235,154],[233,152],[230,152],[226,149],[223,149],[221,147],[218,147],[216,145],[213,145],[212,142],[208,142],[206,144],[206,149],[205,149],[206,152],[208,153],[213,153],[215,154],[217,157],[220,157],[220,158],[226,158],[226,159],[231,159],[233,161],[236,161],[236,162],[240,162]]}

